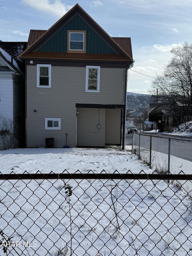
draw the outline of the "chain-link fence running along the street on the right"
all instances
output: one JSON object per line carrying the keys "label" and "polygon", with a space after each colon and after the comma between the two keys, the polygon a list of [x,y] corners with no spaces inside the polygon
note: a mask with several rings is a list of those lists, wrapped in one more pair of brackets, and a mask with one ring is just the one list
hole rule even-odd
{"label": "chain-link fence running along the street on the right", "polygon": [[[132,152],[149,164],[150,168],[161,173],[191,174],[192,170],[192,139],[151,135],[133,134]],[[180,181],[182,189],[192,197],[192,183]]]}

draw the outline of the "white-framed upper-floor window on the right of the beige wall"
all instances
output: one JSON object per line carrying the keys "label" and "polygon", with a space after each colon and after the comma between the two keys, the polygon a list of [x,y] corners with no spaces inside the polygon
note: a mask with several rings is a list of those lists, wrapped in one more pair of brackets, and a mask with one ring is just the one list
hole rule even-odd
{"label": "white-framed upper-floor window on the right of the beige wall", "polygon": [[100,66],[86,66],[85,92],[99,92]]}

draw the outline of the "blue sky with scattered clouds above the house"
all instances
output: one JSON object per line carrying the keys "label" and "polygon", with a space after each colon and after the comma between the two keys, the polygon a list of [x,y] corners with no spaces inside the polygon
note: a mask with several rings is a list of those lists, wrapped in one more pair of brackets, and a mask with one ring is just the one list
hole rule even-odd
{"label": "blue sky with scattered clouds above the house", "polygon": [[[128,92],[149,93],[170,50],[192,43],[191,0],[0,0],[0,40],[27,41],[30,29],[49,29],[78,3],[111,37],[131,37],[134,67]],[[141,74],[139,74],[141,73]]]}

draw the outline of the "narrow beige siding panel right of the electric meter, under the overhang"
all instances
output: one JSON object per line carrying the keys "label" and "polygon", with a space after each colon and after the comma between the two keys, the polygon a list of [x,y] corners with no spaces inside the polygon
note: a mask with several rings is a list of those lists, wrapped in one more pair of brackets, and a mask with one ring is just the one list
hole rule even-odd
{"label": "narrow beige siding panel right of the electric meter, under the overhang", "polygon": [[105,144],[121,144],[121,110],[105,111]]}

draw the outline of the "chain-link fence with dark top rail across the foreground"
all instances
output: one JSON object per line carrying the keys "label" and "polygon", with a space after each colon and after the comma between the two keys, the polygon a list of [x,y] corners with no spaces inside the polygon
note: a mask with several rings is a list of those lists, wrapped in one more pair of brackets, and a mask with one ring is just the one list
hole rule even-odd
{"label": "chain-link fence with dark top rail across the foreground", "polygon": [[192,255],[192,175],[0,174],[0,255]]}

